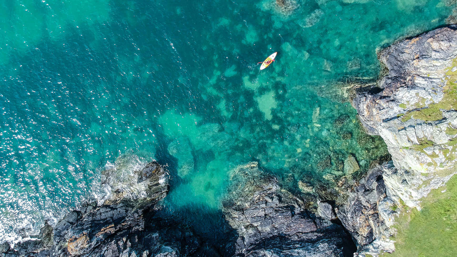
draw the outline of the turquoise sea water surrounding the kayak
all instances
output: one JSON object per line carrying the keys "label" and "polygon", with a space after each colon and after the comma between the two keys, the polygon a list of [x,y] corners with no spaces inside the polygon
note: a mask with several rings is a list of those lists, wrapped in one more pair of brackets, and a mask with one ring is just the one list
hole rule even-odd
{"label": "turquoise sea water surrounding the kayak", "polygon": [[0,232],[62,216],[116,162],[167,164],[166,204],[196,209],[218,209],[228,171],[248,161],[291,189],[337,180],[348,154],[366,170],[385,145],[361,131],[340,82],[376,77],[377,49],[451,11],[437,0],[4,1]]}

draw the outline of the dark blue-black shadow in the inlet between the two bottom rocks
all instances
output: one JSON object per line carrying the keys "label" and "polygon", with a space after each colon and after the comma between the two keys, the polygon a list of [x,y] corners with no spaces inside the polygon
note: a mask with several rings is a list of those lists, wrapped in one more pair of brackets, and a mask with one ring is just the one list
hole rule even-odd
{"label": "dark blue-black shadow in the inlet between the two bottom rocks", "polygon": [[145,230],[159,233],[161,245],[176,247],[183,256],[234,255],[238,234],[220,210],[192,204],[174,211],[149,210],[145,213],[145,224]]}

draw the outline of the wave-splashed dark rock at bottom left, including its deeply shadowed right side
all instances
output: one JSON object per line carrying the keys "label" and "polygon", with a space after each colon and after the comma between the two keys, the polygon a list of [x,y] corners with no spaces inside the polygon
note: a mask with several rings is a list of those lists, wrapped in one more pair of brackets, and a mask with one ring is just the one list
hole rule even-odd
{"label": "wave-splashed dark rock at bottom left, including its deeply shadowed right side", "polygon": [[113,191],[101,205],[86,203],[80,210],[67,214],[54,228],[45,225],[40,235],[30,240],[14,246],[1,245],[0,257],[232,255],[230,238],[234,236],[228,236],[232,229],[225,221],[218,222],[224,240],[215,243],[219,238],[215,238],[214,231],[206,235],[183,217],[160,209],[170,176],[163,166],[151,162],[135,172],[136,184],[128,176],[122,182],[108,176],[108,172],[115,170],[102,172],[107,176],[103,181],[109,182]]}

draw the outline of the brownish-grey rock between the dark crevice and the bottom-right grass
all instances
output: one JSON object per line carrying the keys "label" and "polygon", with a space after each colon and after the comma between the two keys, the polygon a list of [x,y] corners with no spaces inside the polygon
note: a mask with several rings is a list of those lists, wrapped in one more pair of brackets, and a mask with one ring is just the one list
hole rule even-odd
{"label": "brownish-grey rock between the dark crevice and the bottom-right grass", "polygon": [[380,250],[392,252],[393,206],[396,206],[383,174],[397,169],[392,161],[378,165],[347,190],[340,191],[336,214],[350,232],[358,252],[377,254]]}

